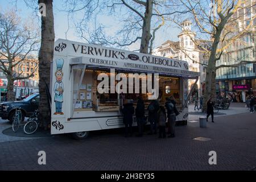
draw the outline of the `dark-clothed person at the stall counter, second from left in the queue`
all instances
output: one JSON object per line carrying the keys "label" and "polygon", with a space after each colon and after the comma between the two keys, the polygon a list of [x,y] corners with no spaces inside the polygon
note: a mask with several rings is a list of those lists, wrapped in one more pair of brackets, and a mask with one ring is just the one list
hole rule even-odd
{"label": "dark-clothed person at the stall counter, second from left in the queue", "polygon": [[137,102],[137,107],[135,109],[136,121],[137,121],[138,130],[139,130],[139,134],[137,135],[137,137],[142,137],[143,127],[145,123],[144,121],[145,106],[141,96],[138,96],[137,98],[138,98],[138,102]]}

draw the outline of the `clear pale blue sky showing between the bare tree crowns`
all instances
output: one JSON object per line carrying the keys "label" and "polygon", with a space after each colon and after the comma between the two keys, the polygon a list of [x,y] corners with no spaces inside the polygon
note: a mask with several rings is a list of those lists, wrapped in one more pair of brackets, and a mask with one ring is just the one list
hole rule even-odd
{"label": "clear pale blue sky showing between the bare tree crowns", "polygon": [[[35,19],[35,22],[40,25],[40,19],[35,16],[33,10],[28,8],[23,0],[0,0],[0,10],[6,9],[15,9],[18,12],[20,18],[32,18]],[[57,39],[67,39],[74,40],[77,42],[85,42],[86,41],[80,38],[80,34],[77,33],[75,26],[73,25],[73,20],[69,19],[69,28],[68,28],[68,13],[61,11],[61,0],[53,1],[53,14],[54,14],[54,23],[55,23],[55,40]],[[101,22],[106,26],[113,26],[113,28],[118,29],[118,20],[113,17],[102,15]],[[111,29],[111,28],[110,28]],[[179,34],[179,28],[173,27],[162,27],[158,32],[156,32],[156,38],[154,42],[154,47],[160,46],[166,40],[178,41],[177,35]],[[113,34],[113,31],[107,32],[109,35]],[[132,44],[127,47],[130,51],[134,51],[139,49],[139,42]]]}

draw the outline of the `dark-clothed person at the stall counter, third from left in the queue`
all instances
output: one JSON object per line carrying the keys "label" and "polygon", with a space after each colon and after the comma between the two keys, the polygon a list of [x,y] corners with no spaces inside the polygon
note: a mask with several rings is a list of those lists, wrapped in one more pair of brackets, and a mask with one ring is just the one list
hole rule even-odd
{"label": "dark-clothed person at the stall counter, third from left in the queue", "polygon": [[150,105],[147,107],[148,110],[148,121],[150,122],[150,135],[156,134],[157,130],[157,123],[158,123],[158,110],[159,110],[159,103],[158,100],[152,100]]}

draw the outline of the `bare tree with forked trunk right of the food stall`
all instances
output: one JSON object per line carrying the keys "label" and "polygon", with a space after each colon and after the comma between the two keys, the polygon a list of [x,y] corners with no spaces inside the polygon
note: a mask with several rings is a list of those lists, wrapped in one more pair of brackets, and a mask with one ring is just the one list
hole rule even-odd
{"label": "bare tree with forked trunk right of the food stall", "polygon": [[237,12],[247,8],[255,8],[255,1],[180,1],[190,10],[200,34],[207,35],[212,43],[212,47],[209,51],[207,51],[207,49],[204,50],[209,54],[206,68],[203,106],[203,110],[206,110],[207,101],[210,97],[216,95],[216,70],[221,67],[237,67],[241,64],[253,63],[253,61],[241,61],[240,59],[239,63],[234,63],[233,65],[221,64],[216,66],[217,61],[220,60],[222,54],[233,42],[237,41],[245,34],[250,34],[254,30],[253,20],[255,17],[251,18],[249,23],[244,25],[245,22],[241,19],[244,14]]}

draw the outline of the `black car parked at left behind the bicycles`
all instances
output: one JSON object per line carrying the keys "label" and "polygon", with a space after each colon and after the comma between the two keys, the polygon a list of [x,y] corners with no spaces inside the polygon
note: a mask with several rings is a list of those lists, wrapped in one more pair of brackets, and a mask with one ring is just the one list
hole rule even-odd
{"label": "black car parked at left behind the bicycles", "polygon": [[0,117],[2,119],[9,119],[13,122],[15,117],[15,109],[22,110],[22,121],[24,117],[30,117],[39,106],[39,93],[32,94],[22,101],[3,102],[0,104]]}

